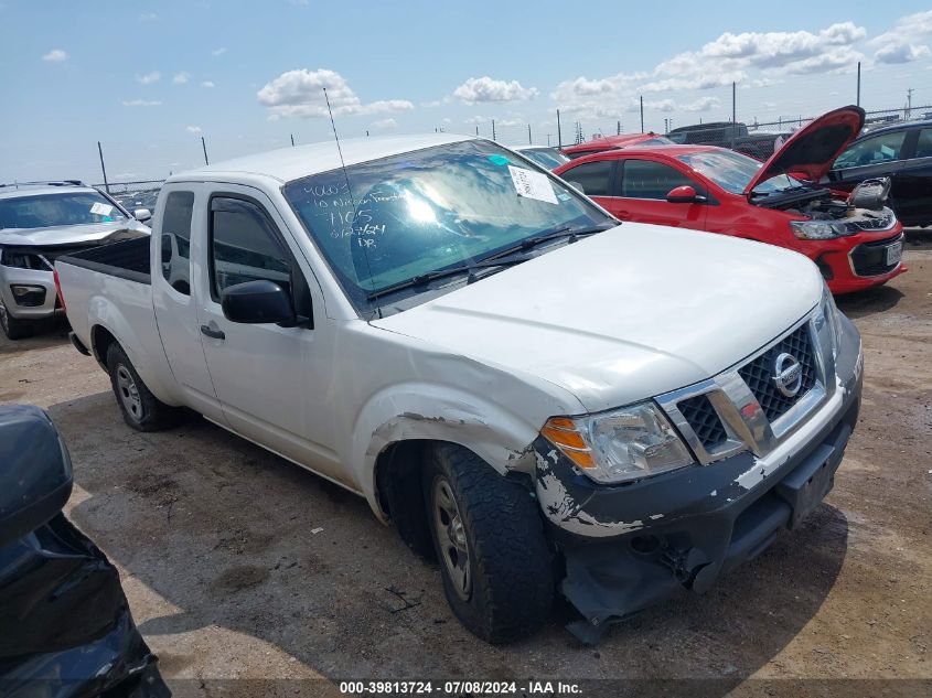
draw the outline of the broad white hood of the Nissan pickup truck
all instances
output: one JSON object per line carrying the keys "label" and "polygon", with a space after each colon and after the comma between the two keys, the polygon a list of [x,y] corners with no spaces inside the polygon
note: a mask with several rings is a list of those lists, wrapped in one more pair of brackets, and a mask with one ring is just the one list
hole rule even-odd
{"label": "broad white hood of the Nissan pickup truck", "polygon": [[796,253],[625,223],[373,324],[533,374],[599,411],[720,373],[822,287]]}

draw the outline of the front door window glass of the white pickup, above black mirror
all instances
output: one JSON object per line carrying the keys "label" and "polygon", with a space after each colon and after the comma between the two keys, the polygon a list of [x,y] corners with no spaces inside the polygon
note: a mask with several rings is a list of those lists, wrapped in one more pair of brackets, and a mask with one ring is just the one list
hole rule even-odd
{"label": "front door window glass of the white pickup, above black mirror", "polygon": [[256,204],[226,196],[211,200],[211,294],[236,283],[265,279],[285,289],[291,265],[268,214]]}

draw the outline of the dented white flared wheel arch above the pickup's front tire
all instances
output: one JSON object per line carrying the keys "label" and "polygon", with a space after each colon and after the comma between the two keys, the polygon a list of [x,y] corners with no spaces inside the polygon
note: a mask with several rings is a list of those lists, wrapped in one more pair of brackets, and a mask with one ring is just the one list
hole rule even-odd
{"label": "dented white flared wheel arch above the pickup's front tire", "polygon": [[531,425],[500,405],[450,386],[406,383],[374,395],[353,427],[351,463],[362,466],[358,482],[376,516],[379,454],[399,441],[431,440],[469,449],[502,475],[533,473],[531,444],[542,425]]}

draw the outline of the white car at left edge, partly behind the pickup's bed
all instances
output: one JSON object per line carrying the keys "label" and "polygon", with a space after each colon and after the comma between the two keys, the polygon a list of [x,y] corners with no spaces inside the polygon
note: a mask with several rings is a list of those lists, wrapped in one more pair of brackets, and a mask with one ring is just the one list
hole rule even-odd
{"label": "white car at left edge, partly behind the pickup's bed", "polygon": [[0,184],[0,326],[10,340],[63,312],[55,258],[86,247],[149,234],[150,212],[131,215],[81,182]]}

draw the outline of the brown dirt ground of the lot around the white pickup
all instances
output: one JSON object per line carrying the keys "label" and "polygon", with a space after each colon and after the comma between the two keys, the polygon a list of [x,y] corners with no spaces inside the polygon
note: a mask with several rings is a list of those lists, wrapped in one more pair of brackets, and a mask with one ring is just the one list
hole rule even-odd
{"label": "brown dirt ground of the lot around the white pickup", "polygon": [[233,678],[727,679],[709,684],[719,694],[749,677],[930,679],[932,232],[909,234],[906,259],[909,273],[839,301],[866,383],[827,503],[710,593],[684,592],[597,647],[557,615],[513,646],[475,640],[438,569],[362,500],[200,419],[131,431],[61,330],[0,340],[0,402],[45,407],[64,432],[69,514],[119,566],[163,675],[194,679],[174,681],[181,692],[269,689]]}

